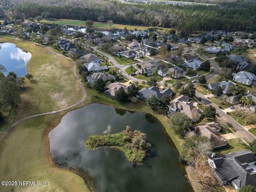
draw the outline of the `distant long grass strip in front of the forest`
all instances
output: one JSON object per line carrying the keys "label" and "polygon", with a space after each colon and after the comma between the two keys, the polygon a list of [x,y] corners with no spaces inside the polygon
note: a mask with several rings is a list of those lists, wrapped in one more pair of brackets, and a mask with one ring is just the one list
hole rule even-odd
{"label": "distant long grass strip in front of the forest", "polygon": [[[85,26],[85,21],[81,20],[72,20],[72,19],[58,19],[58,20],[42,20],[42,22],[47,24],[58,24],[58,25],[70,25],[70,26]],[[125,27],[128,30],[134,30],[134,28],[137,28],[137,30],[147,30],[149,28],[158,28],[162,29],[163,31],[170,30],[168,28],[163,27],[150,27],[150,26],[134,26],[134,25],[122,25],[122,24],[113,24],[110,28],[110,26],[107,23],[101,23],[101,22],[94,22],[93,26],[94,28],[98,30],[110,30],[110,29],[124,29]]]}

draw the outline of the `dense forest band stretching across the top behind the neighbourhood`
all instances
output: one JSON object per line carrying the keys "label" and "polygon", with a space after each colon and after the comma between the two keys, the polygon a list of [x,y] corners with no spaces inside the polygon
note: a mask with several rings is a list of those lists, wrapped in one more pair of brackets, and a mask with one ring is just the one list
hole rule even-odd
{"label": "dense forest band stretching across the top behind the neighbourhood", "polygon": [[[5,1],[8,3],[9,1]],[[10,19],[43,16],[138,26],[176,28],[182,36],[196,31],[256,31],[255,1],[224,1],[218,5],[124,4],[117,1],[36,1],[12,4]],[[44,2],[44,4],[42,4]]]}

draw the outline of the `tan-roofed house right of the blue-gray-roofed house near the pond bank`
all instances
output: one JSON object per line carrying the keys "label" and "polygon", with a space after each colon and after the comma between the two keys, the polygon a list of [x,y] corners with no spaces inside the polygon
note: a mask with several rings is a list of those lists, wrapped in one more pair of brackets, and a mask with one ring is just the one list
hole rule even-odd
{"label": "tan-roofed house right of the blue-gray-roofed house near the pond bank", "polygon": [[196,102],[189,101],[189,96],[180,95],[179,97],[172,100],[172,102],[169,104],[169,110],[168,113],[172,114],[175,112],[181,112],[185,113],[189,118],[192,119],[192,110],[194,108],[197,109],[199,113],[201,113],[201,110],[197,108]]}

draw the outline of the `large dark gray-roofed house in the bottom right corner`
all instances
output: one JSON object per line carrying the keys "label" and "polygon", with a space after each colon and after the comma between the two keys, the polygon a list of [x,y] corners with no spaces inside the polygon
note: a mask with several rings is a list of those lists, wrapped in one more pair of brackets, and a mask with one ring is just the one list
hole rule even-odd
{"label": "large dark gray-roofed house in the bottom right corner", "polygon": [[220,185],[231,183],[236,190],[245,185],[256,187],[256,158],[252,152],[242,150],[212,156],[208,158],[208,163]]}

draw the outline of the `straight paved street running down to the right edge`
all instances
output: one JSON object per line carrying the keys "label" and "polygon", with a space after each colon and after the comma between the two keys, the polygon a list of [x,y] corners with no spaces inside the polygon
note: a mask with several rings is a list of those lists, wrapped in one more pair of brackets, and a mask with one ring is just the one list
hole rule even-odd
{"label": "straight paved street running down to the right edge", "polygon": [[216,112],[219,114],[220,117],[223,117],[226,122],[231,124],[235,129],[237,129],[238,134],[241,134],[244,138],[247,138],[250,142],[252,142],[254,139],[256,139],[248,130],[246,130],[243,126],[241,126],[238,122],[233,120],[228,114],[223,112],[218,106],[216,106],[214,103],[212,103],[209,99],[206,98],[205,95],[196,92],[196,96],[202,98],[202,102],[208,105],[212,105],[216,108]]}

